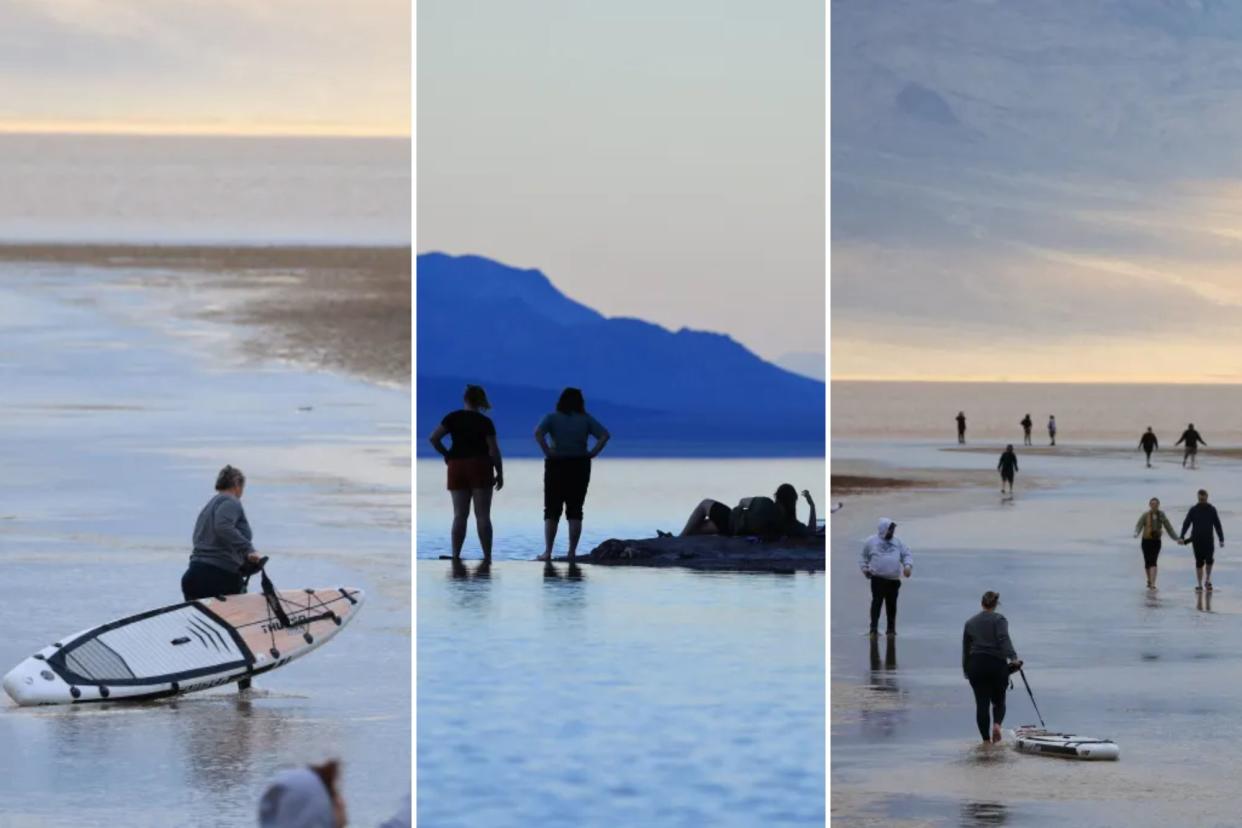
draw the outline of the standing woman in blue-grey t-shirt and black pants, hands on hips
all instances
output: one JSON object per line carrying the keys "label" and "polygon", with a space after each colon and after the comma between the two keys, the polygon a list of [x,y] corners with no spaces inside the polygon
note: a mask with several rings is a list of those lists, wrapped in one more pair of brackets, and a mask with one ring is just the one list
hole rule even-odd
{"label": "standing woman in blue-grey t-shirt and black pants, hands on hips", "polygon": [[[587,449],[587,439],[595,446]],[[582,504],[591,483],[591,459],[609,444],[607,428],[586,413],[586,401],[579,389],[565,389],[556,401],[556,410],[539,421],[535,442],[544,453],[544,554],[539,560],[551,560],[556,526],[564,509],[569,524],[569,560],[578,555],[582,536]],[[548,438],[551,438],[549,444]]]}

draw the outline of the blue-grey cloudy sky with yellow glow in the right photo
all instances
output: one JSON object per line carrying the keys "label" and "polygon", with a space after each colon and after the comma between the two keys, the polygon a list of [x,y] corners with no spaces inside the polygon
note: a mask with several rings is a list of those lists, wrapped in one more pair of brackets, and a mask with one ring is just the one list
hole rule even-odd
{"label": "blue-grey cloudy sky with yellow glow in the right photo", "polygon": [[1242,4],[832,4],[836,379],[1242,381]]}

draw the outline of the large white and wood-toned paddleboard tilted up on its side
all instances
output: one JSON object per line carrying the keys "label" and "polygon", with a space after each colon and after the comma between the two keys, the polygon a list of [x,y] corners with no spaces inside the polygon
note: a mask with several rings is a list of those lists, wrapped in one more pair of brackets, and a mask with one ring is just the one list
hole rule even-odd
{"label": "large white and wood-toned paddleboard tilted up on its side", "polygon": [[150,610],[45,647],[4,677],[4,689],[20,705],[206,690],[322,647],[353,621],[364,597],[350,587],[284,590]]}

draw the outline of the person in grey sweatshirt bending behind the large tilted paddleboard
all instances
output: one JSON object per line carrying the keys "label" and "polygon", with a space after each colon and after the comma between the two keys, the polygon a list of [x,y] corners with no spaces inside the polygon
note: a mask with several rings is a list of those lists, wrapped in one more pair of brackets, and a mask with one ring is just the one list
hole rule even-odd
{"label": "person in grey sweatshirt bending behind the large tilted paddleboard", "polygon": [[[246,475],[241,469],[225,466],[216,475],[216,494],[202,506],[194,524],[194,551],[190,565],[181,576],[181,596],[186,601],[212,598],[217,595],[241,595],[246,577],[262,565],[255,551],[253,533],[241,508]],[[242,679],[237,688],[250,688]]]}

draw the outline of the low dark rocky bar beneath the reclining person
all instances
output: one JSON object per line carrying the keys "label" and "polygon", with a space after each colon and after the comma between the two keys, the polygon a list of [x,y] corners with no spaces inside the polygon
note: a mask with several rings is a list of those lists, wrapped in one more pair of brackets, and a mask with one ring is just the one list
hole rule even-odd
{"label": "low dark rocky bar beneath the reclining person", "polygon": [[[823,570],[823,536],[756,541],[748,538],[693,535],[606,540],[582,564],[599,566],[682,566],[694,570],[746,572],[817,572]],[[564,561],[565,557],[556,560]]]}

